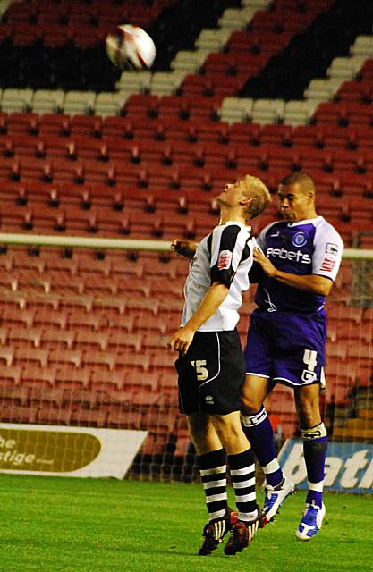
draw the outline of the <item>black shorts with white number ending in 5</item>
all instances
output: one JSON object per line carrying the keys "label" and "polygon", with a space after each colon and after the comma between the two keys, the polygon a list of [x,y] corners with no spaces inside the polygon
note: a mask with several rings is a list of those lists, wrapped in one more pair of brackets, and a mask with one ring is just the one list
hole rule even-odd
{"label": "black shorts with white number ending in 5", "polygon": [[237,330],[196,332],[175,367],[182,413],[227,415],[241,409],[246,368]]}

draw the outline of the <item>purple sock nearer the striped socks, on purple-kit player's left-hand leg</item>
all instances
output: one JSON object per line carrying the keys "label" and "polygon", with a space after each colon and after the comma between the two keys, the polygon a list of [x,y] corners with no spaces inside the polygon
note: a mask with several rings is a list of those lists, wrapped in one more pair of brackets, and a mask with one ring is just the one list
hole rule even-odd
{"label": "purple sock nearer the striped socks, on purple-kit player's left-hand leg", "polygon": [[242,415],[241,421],[246,437],[266,475],[267,484],[276,486],[284,478],[277,460],[274,432],[264,406],[254,415]]}

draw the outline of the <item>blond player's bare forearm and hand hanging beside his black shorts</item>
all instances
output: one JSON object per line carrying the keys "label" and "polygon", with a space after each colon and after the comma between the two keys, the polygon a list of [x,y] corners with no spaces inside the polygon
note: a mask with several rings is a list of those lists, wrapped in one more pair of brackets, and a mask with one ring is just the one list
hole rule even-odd
{"label": "blond player's bare forearm and hand hanging beside his black shorts", "polygon": [[183,328],[174,333],[174,336],[167,343],[168,348],[186,353],[193,341],[195,332],[202,324],[208,321],[208,318],[216,313],[228,292],[229,288],[221,282],[211,284],[197,312],[191,316],[191,319]]}

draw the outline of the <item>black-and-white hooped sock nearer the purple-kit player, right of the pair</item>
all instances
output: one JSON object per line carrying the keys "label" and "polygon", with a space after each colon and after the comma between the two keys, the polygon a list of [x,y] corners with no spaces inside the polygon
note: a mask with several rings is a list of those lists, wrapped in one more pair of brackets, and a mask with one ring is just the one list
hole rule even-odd
{"label": "black-and-white hooped sock nearer the purple-kit player, right of the pair", "polygon": [[238,455],[229,455],[228,463],[239,520],[250,522],[258,516],[254,454],[248,449]]}

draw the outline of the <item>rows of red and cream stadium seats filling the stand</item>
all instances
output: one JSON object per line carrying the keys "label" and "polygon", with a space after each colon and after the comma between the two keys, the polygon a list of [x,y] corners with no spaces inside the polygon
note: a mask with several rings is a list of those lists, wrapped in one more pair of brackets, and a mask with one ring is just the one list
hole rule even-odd
{"label": "rows of red and cream stadium seats filling the stand", "polygon": [[[306,101],[237,97],[244,83],[330,2],[302,2],[299,13],[300,3],[275,2],[271,13],[255,13],[247,29],[232,32],[226,25],[223,32],[200,34],[195,52],[175,58],[177,81],[175,75],[165,93],[157,91],[155,74],[148,71],[120,79],[111,71],[117,94],[85,90],[89,79],[81,88],[69,86],[71,66],[64,61],[71,57],[74,72],[94,81],[94,71],[82,64],[83,53],[96,61],[98,42],[118,13],[150,25],[163,6],[174,3],[153,3],[145,14],[136,2],[120,7],[108,0],[92,2],[89,21],[85,3],[29,4],[13,4],[0,39],[17,29],[14,45],[29,49],[30,62],[36,40],[42,39],[47,80],[55,70],[65,88],[43,88],[44,71],[37,74],[38,88],[7,87],[18,65],[13,75],[4,76],[2,231],[199,240],[216,223],[214,197],[225,182],[250,171],[275,190],[285,174],[299,169],[314,174],[318,211],[341,231],[346,246],[371,228],[372,60],[356,52],[353,61],[335,62],[329,70],[333,86],[309,86]],[[68,41],[80,49],[79,57]],[[212,53],[207,46],[215,46]],[[159,85],[161,80],[166,79],[159,78]],[[311,95],[322,89],[329,99],[336,91],[335,101],[318,105]],[[304,121],[311,124],[299,124]],[[276,214],[274,206],[254,230]],[[361,240],[372,247],[369,237]],[[145,452],[164,454],[174,433],[176,451],[184,454],[189,439],[178,426],[174,356],[165,341],[179,324],[186,261],[162,262],[159,255],[145,253],[138,260],[107,252],[103,260],[87,252],[63,254],[55,257],[44,248],[32,256],[12,249],[0,254],[0,359],[6,383],[1,419],[148,428]],[[326,399],[334,396],[341,403],[358,378],[369,383],[371,375],[371,316],[369,308],[346,306],[349,270],[335,284],[328,307]],[[247,322],[245,315],[242,332]],[[170,400],[168,409],[159,406],[162,397]],[[296,431],[288,397],[278,388],[268,402],[284,436]]]}

